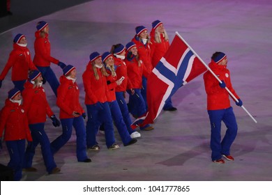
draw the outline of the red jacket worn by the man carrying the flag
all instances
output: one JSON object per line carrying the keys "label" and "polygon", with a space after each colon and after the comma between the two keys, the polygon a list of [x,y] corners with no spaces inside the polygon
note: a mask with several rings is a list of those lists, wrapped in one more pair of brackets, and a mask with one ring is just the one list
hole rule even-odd
{"label": "red jacket worn by the man carrying the flag", "polygon": [[[218,65],[215,62],[209,63],[209,67],[213,72],[218,76],[220,80],[225,81],[227,88],[231,91],[234,96],[239,99],[239,96],[236,94],[232,88],[232,83],[230,80],[229,70],[226,65]],[[219,86],[218,80],[207,71],[203,75],[205,90],[207,93],[207,109],[208,110],[217,110],[217,109],[227,109],[230,107],[229,102],[229,93],[225,88]]]}

